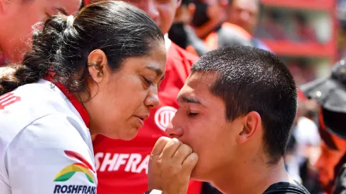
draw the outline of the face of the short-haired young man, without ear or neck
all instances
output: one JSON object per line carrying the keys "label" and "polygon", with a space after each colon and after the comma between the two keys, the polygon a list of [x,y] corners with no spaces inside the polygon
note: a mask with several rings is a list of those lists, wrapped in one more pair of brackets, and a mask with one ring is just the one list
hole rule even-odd
{"label": "face of the short-haired young man, without ear or neck", "polygon": [[166,129],[168,135],[190,145],[198,154],[191,176],[203,181],[229,167],[239,156],[237,133],[243,128],[241,119],[227,122],[225,103],[209,90],[214,82],[213,73],[189,75],[177,97],[179,109]]}

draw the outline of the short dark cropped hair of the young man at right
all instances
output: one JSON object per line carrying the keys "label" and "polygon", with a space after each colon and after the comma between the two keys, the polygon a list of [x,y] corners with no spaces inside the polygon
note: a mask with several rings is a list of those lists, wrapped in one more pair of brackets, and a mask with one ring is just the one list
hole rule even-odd
{"label": "short dark cropped hair of the young man at right", "polygon": [[285,63],[262,49],[224,47],[202,56],[192,71],[217,73],[210,92],[225,102],[228,121],[250,111],[261,115],[263,149],[276,164],[297,113],[297,87]]}

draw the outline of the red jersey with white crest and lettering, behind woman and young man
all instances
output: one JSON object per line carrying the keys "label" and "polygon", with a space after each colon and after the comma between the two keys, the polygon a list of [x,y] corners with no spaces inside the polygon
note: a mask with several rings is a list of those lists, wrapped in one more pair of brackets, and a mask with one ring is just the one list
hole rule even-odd
{"label": "red jersey with white crest and lettering, behind woman and young man", "polygon": [[[93,142],[97,170],[97,193],[138,193],[148,189],[148,162],[158,138],[167,136],[165,128],[178,108],[177,95],[198,57],[173,42],[167,49],[165,79],[160,84],[160,105],[130,141],[112,140],[97,135]],[[201,193],[202,183],[191,181],[189,194]]]}

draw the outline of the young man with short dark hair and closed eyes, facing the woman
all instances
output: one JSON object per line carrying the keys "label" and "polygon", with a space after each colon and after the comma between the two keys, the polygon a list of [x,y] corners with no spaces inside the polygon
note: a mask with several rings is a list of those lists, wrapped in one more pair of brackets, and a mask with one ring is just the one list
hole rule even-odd
{"label": "young man with short dark hair and closed eyes, facing the woman", "polygon": [[177,100],[166,133],[198,154],[191,178],[225,194],[309,193],[285,170],[297,87],[277,56],[244,46],[210,51]]}

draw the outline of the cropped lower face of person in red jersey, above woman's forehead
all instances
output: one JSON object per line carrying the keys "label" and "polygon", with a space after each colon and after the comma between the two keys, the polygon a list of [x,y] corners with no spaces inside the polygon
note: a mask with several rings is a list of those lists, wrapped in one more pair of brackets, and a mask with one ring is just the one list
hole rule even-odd
{"label": "cropped lower face of person in red jersey, above woman's forehead", "polygon": [[133,6],[141,8],[153,18],[163,34],[171,28],[175,12],[181,4],[181,0],[123,0]]}

